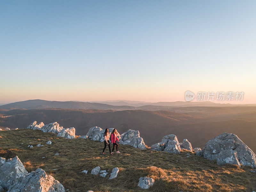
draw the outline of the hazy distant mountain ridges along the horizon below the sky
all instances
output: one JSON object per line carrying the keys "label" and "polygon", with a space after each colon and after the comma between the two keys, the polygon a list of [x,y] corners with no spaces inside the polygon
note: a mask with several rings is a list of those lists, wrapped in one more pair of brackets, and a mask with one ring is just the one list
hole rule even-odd
{"label": "hazy distant mountain ridges along the horizon below the sky", "polygon": [[[135,103],[132,103],[135,102]],[[83,102],[83,101],[48,101],[48,100],[26,100],[1,105],[0,109],[44,109],[44,108],[74,108],[74,109],[114,109],[114,110],[166,110],[177,107],[232,107],[232,106],[256,106],[255,104],[234,105],[213,103],[211,101],[174,101],[174,102],[156,102],[156,103],[136,103],[141,101],[99,101],[99,102]]]}

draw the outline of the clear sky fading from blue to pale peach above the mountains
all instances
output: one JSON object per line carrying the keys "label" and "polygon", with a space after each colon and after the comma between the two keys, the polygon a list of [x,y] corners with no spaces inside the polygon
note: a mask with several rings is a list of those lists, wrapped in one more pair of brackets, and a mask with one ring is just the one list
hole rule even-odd
{"label": "clear sky fading from blue to pale peach above the mountains", "polygon": [[256,1],[0,1],[0,103],[256,103]]}

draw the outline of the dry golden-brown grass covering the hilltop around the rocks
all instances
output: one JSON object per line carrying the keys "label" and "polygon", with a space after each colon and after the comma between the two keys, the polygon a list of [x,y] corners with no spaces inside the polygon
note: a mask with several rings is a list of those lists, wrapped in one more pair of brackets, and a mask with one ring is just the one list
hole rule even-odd
{"label": "dry golden-brown grass covering the hilltop around the rocks", "polygon": [[[250,172],[250,167],[220,166],[186,150],[175,155],[120,145],[120,154],[110,156],[107,148],[102,156],[104,144],[98,141],[58,138],[53,133],[27,129],[4,131],[0,135],[0,156],[17,155],[28,172],[42,168],[71,192],[252,192],[256,189],[255,173]],[[45,144],[48,140],[52,145]],[[44,146],[36,147],[38,143]],[[30,149],[28,145],[34,147]],[[187,153],[191,156],[185,158]],[[120,172],[116,179],[108,180],[90,174],[96,166],[110,171],[119,167]],[[83,170],[89,173],[81,173]],[[149,190],[137,186],[142,176],[156,180]]]}

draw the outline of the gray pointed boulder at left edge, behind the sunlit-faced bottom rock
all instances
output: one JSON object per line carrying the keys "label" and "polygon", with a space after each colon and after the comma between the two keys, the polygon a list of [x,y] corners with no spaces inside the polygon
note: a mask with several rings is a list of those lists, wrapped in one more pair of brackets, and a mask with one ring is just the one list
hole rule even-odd
{"label": "gray pointed boulder at left edge, behind the sunlit-faced bottom rock", "polygon": [[0,167],[0,186],[8,190],[20,177],[25,177],[27,174],[27,170],[17,156],[8,159],[8,161],[4,162]]}

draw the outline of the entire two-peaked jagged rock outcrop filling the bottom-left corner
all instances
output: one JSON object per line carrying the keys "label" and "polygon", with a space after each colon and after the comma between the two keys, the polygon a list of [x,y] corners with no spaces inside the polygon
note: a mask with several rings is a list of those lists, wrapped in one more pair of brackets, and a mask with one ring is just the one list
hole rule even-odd
{"label": "entire two-peaked jagged rock outcrop filling the bottom-left corner", "polygon": [[20,159],[16,156],[0,164],[0,186],[8,192],[65,192],[63,185],[44,170],[37,169],[27,172]]}

